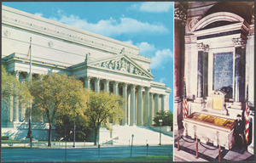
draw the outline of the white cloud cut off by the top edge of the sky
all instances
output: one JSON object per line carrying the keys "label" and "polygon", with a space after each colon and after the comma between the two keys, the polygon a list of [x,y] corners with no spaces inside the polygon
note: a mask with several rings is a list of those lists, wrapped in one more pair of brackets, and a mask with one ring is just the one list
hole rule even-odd
{"label": "white cloud cut off by the top edge of the sky", "polygon": [[134,4],[131,6],[133,9],[138,9],[148,13],[163,13],[168,12],[173,7],[172,2],[145,2]]}

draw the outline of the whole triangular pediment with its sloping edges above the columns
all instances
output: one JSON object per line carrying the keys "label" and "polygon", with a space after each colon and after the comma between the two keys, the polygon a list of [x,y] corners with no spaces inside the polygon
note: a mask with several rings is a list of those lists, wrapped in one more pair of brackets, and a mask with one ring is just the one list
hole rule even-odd
{"label": "whole triangular pediment with its sloping edges above the columns", "polygon": [[152,76],[148,75],[148,73],[145,72],[145,70],[140,68],[137,64],[132,63],[131,59],[126,59],[125,57],[108,59],[91,65],[101,67],[107,70],[121,71],[132,75],[152,78]]}

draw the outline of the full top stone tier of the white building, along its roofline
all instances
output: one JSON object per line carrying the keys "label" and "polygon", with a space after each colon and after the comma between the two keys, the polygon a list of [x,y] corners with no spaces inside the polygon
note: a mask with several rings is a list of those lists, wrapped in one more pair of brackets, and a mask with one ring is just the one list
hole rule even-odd
{"label": "full top stone tier of the white building, along its roofline", "polygon": [[[103,37],[90,31],[84,31],[71,25],[64,25],[53,20],[44,19],[14,8],[2,7],[2,24],[13,25],[28,31],[39,32],[53,37],[60,37],[68,41],[79,42],[86,46],[108,50],[112,53],[119,53],[122,48],[125,48],[126,54],[138,54],[139,49],[134,45],[120,42],[109,37]],[[19,15],[15,16],[14,14]],[[26,20],[21,19],[20,16],[25,17]],[[92,40],[88,37],[94,39]],[[116,45],[118,45],[119,48],[117,48]]]}

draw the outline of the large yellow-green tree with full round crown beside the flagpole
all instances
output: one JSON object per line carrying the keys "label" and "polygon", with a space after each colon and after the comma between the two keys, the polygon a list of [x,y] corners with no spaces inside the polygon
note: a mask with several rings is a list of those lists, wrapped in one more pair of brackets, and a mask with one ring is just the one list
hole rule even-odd
{"label": "large yellow-green tree with full round crown beside the flagpole", "polygon": [[[32,115],[46,115],[49,122],[48,146],[51,146],[51,128],[56,115],[72,115],[84,113],[86,96],[82,82],[74,76],[53,74],[43,79],[34,80],[30,86],[34,97]],[[83,114],[81,114],[83,115]]]}

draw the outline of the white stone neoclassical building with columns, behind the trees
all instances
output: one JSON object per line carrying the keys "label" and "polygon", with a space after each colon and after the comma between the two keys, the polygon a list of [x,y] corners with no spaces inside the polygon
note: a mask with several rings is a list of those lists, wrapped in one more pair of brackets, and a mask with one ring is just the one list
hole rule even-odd
{"label": "white stone neoclassical building with columns, behind the trees", "polygon": [[[157,111],[169,110],[171,89],[153,81],[151,59],[140,55],[136,46],[2,7],[2,64],[20,82],[29,76],[32,38],[32,78],[66,73],[96,93],[119,94],[127,101],[121,125],[150,126]],[[25,110],[11,97],[9,106],[2,105],[2,126],[26,123]]]}

